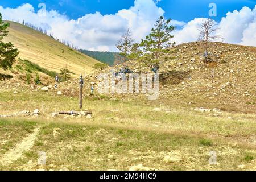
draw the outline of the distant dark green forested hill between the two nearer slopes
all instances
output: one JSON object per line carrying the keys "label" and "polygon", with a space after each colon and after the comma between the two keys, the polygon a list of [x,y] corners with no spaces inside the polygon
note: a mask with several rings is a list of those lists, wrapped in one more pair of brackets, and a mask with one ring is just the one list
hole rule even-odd
{"label": "distant dark green forested hill between the two nearer slopes", "polygon": [[90,57],[93,57],[94,59],[101,61],[102,63],[106,63],[110,66],[113,66],[115,64],[115,55],[118,54],[118,52],[108,52],[108,51],[87,51],[87,50],[79,50],[80,52],[84,53],[85,55],[88,55]]}

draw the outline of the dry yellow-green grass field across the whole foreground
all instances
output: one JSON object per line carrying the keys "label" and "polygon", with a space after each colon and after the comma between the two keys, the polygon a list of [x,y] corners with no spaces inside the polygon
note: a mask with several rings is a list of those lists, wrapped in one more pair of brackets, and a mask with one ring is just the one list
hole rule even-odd
{"label": "dry yellow-green grass field across the whole foreground", "polygon": [[[239,170],[241,164],[245,169],[255,170],[255,114],[222,112],[220,117],[212,117],[209,113],[179,106],[170,108],[157,102],[88,96],[84,98],[84,108],[93,111],[92,119],[51,118],[54,111],[79,110],[77,98],[56,96],[56,90],[45,93],[23,88],[18,89],[18,94],[13,91],[0,90],[0,114],[38,108],[42,115],[1,119],[6,128],[0,133],[1,140],[21,123],[23,131],[30,122],[31,126],[37,123],[43,127],[34,147],[13,164],[0,164],[3,170],[127,170],[140,163],[159,170]],[[162,111],[152,111],[155,107],[161,107]],[[60,129],[56,137],[54,129]],[[15,137],[23,138],[23,133],[18,132]],[[46,152],[46,165],[38,165],[38,151]],[[217,152],[217,165],[208,163],[210,151]],[[166,163],[163,160],[166,155],[179,156],[181,161]]]}

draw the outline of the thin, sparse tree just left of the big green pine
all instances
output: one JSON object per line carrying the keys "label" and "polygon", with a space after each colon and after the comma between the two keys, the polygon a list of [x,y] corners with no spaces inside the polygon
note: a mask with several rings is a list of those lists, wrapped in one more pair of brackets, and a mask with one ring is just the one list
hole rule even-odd
{"label": "thin, sparse tree just left of the big green pine", "polygon": [[125,34],[122,35],[122,38],[118,40],[115,45],[117,49],[120,51],[118,55],[118,59],[122,61],[124,67],[126,67],[126,62],[129,61],[129,55],[131,53],[131,49],[133,47],[133,35],[131,30],[128,29]]}

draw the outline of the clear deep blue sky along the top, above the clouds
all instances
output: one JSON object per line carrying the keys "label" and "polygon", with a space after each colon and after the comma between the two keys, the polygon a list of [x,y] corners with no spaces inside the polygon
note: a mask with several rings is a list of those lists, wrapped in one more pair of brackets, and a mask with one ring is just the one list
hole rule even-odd
{"label": "clear deep blue sky along the top, above the clouds", "polygon": [[[23,3],[30,3],[38,9],[39,3],[45,3],[47,10],[57,10],[67,15],[70,19],[77,19],[85,14],[100,11],[102,15],[115,14],[118,10],[129,9],[134,6],[134,0],[1,0],[3,7],[18,7]],[[240,10],[243,6],[254,8],[256,0],[162,0],[158,7],[166,12],[167,18],[189,22],[197,17],[208,18],[209,3],[216,3],[217,17],[220,21],[228,11]]]}

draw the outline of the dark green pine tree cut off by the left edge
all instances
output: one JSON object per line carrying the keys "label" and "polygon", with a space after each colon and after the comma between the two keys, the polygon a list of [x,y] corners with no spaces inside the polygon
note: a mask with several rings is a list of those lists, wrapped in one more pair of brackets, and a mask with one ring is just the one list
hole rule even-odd
{"label": "dark green pine tree cut off by the left edge", "polygon": [[12,43],[3,42],[3,38],[9,33],[7,30],[9,26],[9,23],[3,22],[2,14],[0,13],[0,68],[3,69],[11,68],[19,54],[18,49],[13,49]]}

